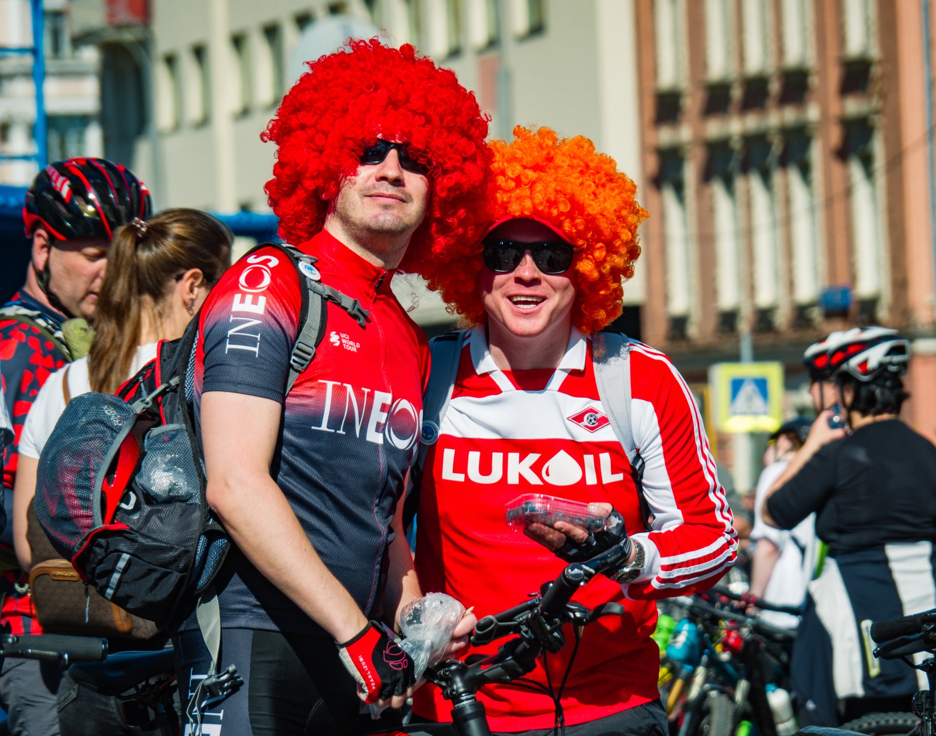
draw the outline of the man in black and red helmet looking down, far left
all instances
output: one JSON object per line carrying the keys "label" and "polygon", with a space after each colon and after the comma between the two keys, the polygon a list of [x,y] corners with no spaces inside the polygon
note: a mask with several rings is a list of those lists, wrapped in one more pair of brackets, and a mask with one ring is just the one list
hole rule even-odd
{"label": "man in black and red helmet looking down, far left", "polygon": [[[113,233],[134,218],[145,220],[150,194],[124,166],[97,158],[58,161],[40,171],[26,193],[22,218],[32,238],[32,260],[22,289],[0,307],[0,385],[14,426],[3,457],[4,509],[12,518],[18,440],[26,415],[52,371],[91,344]],[[0,536],[3,596],[0,625],[13,634],[40,633],[28,587],[13,555],[12,524]],[[0,699],[14,733],[58,733],[55,693],[59,672],[36,660],[7,659]]]}

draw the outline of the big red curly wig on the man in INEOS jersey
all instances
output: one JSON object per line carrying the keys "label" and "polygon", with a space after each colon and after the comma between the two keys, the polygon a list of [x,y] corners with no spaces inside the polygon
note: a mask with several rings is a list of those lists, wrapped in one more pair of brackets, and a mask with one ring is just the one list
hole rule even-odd
{"label": "big red curly wig on the man in INEOS jersey", "polygon": [[437,68],[406,44],[351,40],[309,62],[260,138],[277,145],[264,191],[280,235],[300,243],[322,229],[329,199],[358,170],[361,152],[378,137],[409,144],[430,166],[431,196],[401,268],[420,272],[431,252],[478,238],[478,192],[490,169],[484,139],[489,118],[454,72]]}

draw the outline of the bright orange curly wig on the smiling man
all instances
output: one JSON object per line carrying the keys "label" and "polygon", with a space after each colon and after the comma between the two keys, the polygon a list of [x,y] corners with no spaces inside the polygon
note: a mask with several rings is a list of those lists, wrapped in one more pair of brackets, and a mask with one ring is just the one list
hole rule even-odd
{"label": "bright orange curly wig on the smiling man", "polygon": [[[549,128],[518,125],[514,138],[490,143],[493,176],[483,220],[490,226],[537,217],[559,228],[576,249],[572,322],[586,334],[596,332],[621,314],[622,280],[634,275],[640,255],[637,225],[647,211],[636,202],[636,184],[586,137],[560,139]],[[485,321],[477,288],[481,251],[480,239],[463,241],[423,272],[450,309],[475,323]]]}

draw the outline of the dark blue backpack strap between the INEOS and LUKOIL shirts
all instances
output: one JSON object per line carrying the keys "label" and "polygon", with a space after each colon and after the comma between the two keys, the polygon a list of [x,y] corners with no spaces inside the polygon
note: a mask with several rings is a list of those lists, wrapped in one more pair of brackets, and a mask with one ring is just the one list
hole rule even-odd
{"label": "dark blue backpack strap between the INEOS and LUKOIL shirts", "polygon": [[[439,428],[446,415],[448,402],[455,388],[459,372],[461,348],[465,342],[465,330],[446,332],[429,341],[431,371],[426,391],[422,395],[422,427],[417,453],[410,468],[406,500],[403,506],[403,527],[409,529],[418,508],[418,488],[422,479],[422,468],[431,445],[439,439]],[[414,493],[416,491],[416,493]]]}

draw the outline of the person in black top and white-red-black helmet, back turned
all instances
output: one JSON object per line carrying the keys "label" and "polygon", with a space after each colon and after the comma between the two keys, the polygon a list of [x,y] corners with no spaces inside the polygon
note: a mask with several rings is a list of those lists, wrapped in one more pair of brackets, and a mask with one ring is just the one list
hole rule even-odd
{"label": "person in black top and white-red-black helmet, back turned", "polygon": [[821,444],[811,432],[809,457],[763,512],[785,529],[815,512],[828,546],[808,586],[792,677],[800,724],[834,726],[909,710],[918,689],[914,671],[871,657],[868,622],[936,606],[936,447],[899,420],[909,340],[856,328],[830,340],[827,359],[846,429]]}

